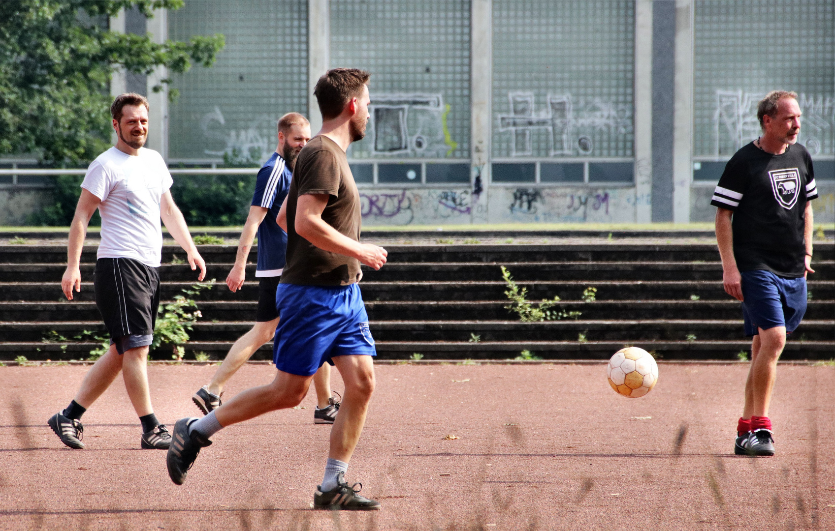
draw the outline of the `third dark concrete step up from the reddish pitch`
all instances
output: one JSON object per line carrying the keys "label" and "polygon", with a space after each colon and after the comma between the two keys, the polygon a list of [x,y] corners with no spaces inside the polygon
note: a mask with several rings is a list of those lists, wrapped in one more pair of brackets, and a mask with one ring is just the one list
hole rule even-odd
{"label": "third dark concrete step up from the reddish pitch", "polygon": [[[504,321],[517,316],[504,308],[504,301],[366,301],[368,316],[372,321]],[[831,319],[833,301],[812,300],[808,303],[807,319]],[[204,301],[199,308],[205,320],[242,321],[251,319],[257,303],[246,301]],[[618,320],[631,319],[731,319],[741,316],[741,306],[735,300],[622,300],[564,301],[557,310],[580,312],[583,319]],[[95,321],[99,310],[92,302],[64,301],[18,303],[0,302],[0,321]]]}

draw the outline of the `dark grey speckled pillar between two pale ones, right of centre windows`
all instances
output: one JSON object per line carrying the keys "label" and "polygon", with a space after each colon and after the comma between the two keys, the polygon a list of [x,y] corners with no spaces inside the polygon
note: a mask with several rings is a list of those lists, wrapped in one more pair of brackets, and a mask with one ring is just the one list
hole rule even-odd
{"label": "dark grey speckled pillar between two pale ones, right of centre windows", "polygon": [[652,4],[652,221],[673,220],[676,3]]}

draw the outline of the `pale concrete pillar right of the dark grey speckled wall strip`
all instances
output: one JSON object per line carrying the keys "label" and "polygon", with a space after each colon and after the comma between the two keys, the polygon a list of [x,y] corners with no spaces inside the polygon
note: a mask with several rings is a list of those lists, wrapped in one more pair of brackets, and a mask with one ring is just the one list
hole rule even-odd
{"label": "pale concrete pillar right of the dark grey speckled wall strip", "polygon": [[676,0],[673,223],[690,223],[693,138],[693,3]]}

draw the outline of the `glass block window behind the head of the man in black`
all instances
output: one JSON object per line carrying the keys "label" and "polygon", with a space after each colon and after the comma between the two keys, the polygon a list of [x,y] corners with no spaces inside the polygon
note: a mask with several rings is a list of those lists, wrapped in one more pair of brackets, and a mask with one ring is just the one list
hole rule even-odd
{"label": "glass block window behind the head of the man in black", "polygon": [[729,158],[757,138],[757,102],[775,89],[798,93],[798,142],[812,158],[835,155],[835,3],[698,1],[694,10],[693,155]]}

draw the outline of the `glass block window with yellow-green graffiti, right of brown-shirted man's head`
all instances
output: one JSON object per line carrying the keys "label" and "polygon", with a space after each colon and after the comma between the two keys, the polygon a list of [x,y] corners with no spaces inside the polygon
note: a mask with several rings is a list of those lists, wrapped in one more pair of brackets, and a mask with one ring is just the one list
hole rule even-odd
{"label": "glass block window with yellow-green graffiti, right of brown-shirted man's head", "polygon": [[469,158],[470,5],[331,2],[331,67],[372,73],[366,138],[350,158]]}

